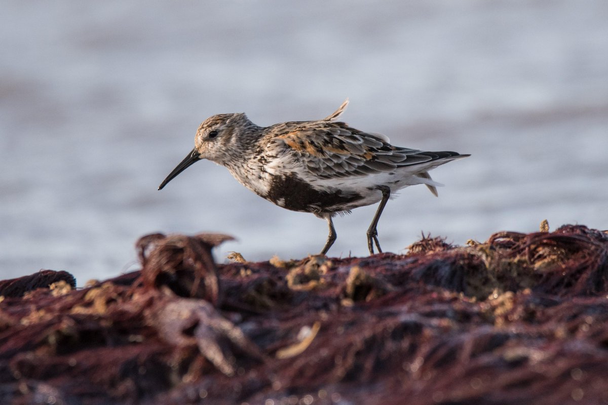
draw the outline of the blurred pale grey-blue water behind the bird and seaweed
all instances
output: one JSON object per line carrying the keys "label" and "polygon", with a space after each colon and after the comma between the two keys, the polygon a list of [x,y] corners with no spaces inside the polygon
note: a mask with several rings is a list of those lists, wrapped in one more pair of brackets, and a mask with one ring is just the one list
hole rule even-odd
{"label": "blurred pale grey-blue water behind the bird and seaweed", "polygon": [[[134,270],[143,234],[219,231],[246,259],[317,253],[326,225],[202,161],[162,191],[209,115],[344,120],[472,157],[436,199],[404,189],[386,251],[582,223],[608,228],[608,2],[4,2],[0,276]],[[376,207],[337,217],[330,254],[367,254]]]}

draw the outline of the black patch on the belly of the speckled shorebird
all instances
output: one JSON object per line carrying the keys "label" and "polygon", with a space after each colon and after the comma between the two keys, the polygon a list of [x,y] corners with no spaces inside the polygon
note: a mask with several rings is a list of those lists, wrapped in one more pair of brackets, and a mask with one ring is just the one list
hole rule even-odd
{"label": "black patch on the belly of the speckled shorebird", "polygon": [[339,190],[316,190],[295,175],[272,177],[268,196],[266,196],[267,200],[278,206],[306,213],[344,211],[347,208],[340,208],[340,206],[347,206],[362,198],[360,194],[343,194]]}

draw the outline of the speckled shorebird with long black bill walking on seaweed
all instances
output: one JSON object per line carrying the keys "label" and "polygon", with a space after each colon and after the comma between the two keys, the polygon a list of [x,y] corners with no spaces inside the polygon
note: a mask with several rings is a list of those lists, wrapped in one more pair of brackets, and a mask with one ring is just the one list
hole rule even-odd
{"label": "speckled shorebird with long black bill walking on seaweed", "polygon": [[348,105],[321,120],[288,121],[258,126],[244,113],[216,114],[196,131],[195,148],[159,186],[202,159],[225,166],[242,185],[282,208],[325,219],[329,234],[325,255],[336,241],[336,214],[379,202],[367,230],[374,254],[378,221],[391,196],[407,186],[423,184],[435,195],[440,183],[429,171],[468,157],[457,152],[425,152],[390,144],[388,137],[359,131],[338,121]]}

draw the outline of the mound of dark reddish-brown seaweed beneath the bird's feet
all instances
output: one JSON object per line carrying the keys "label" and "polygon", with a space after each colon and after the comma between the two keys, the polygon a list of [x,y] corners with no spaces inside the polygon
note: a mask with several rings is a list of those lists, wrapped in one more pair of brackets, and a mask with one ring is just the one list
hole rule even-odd
{"label": "mound of dark reddish-brown seaweed beneath the bird's feet", "polygon": [[0,282],[0,403],[608,403],[603,231],[215,264],[229,238],[145,236],[140,271],[77,290]]}

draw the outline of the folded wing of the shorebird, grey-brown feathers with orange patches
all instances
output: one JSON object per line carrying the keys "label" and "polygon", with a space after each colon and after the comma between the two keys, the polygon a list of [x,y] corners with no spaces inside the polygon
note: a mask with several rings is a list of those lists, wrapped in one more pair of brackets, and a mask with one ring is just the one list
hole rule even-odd
{"label": "folded wing of the shorebird, grey-brown feathers with orange patches", "polygon": [[[390,172],[403,166],[449,157],[448,152],[423,152],[399,148],[374,134],[350,128],[342,122],[326,120],[283,123],[271,142],[291,154],[308,171],[321,179],[363,176]],[[454,153],[454,152],[450,152]]]}

